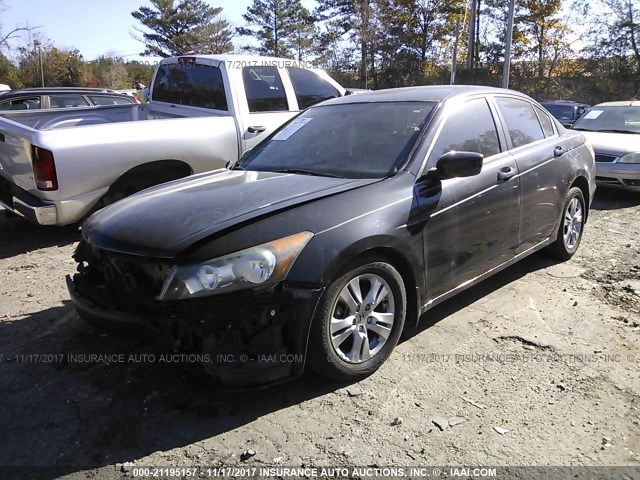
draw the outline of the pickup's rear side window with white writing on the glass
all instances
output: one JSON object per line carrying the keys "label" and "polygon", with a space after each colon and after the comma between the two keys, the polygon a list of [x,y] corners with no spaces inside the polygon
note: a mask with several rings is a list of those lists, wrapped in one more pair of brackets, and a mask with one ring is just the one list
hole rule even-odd
{"label": "pickup's rear side window with white writing on the glass", "polygon": [[250,112],[278,112],[289,109],[276,67],[244,67],[242,80]]}

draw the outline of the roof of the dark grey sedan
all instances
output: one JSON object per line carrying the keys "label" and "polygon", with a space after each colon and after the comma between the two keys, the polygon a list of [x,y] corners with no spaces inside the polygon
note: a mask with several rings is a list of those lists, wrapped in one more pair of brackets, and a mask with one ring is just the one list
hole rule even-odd
{"label": "roof of the dark grey sedan", "polygon": [[504,88],[485,87],[477,85],[430,85],[422,87],[390,88],[372,92],[359,93],[346,97],[328,100],[322,105],[342,103],[373,103],[373,102],[443,102],[454,97],[468,97],[479,94],[510,94],[532,100],[523,93]]}

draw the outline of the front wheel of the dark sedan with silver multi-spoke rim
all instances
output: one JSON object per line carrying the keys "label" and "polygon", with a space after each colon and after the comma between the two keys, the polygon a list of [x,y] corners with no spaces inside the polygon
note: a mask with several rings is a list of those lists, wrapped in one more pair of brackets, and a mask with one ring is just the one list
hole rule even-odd
{"label": "front wheel of the dark sedan with silver multi-spoke rim", "polygon": [[371,375],[398,343],[406,310],[398,271],[382,261],[361,262],[334,280],[320,300],[309,337],[309,366],[340,381]]}

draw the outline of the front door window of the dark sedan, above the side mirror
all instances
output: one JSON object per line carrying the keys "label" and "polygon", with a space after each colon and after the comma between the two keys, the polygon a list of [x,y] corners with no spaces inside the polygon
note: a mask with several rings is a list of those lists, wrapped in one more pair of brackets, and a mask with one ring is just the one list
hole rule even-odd
{"label": "front door window of the dark sedan, above the side mirror", "polygon": [[482,153],[485,157],[500,153],[496,124],[486,100],[470,100],[446,119],[432,156],[438,159],[451,150]]}

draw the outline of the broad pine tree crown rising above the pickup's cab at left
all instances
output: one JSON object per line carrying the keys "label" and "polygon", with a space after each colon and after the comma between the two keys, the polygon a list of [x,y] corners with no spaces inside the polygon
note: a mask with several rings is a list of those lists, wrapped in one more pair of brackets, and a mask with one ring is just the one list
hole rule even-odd
{"label": "broad pine tree crown rising above the pickup's cab at left", "polygon": [[233,50],[233,31],[219,18],[222,8],[203,0],[150,0],[131,15],[149,31],[136,29],[145,44],[142,55],[225,53]]}

